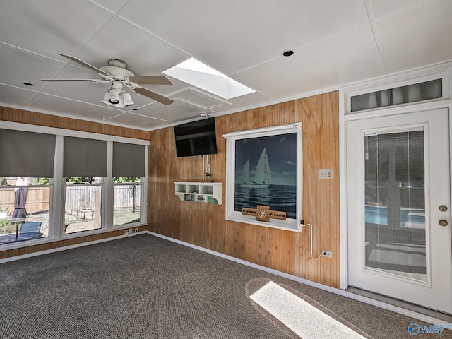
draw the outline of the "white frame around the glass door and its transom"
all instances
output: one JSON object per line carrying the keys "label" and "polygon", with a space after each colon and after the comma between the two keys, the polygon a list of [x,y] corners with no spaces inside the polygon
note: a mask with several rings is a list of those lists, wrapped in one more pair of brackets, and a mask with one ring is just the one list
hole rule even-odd
{"label": "white frame around the glass door and its transom", "polygon": [[[400,107],[387,107],[375,110],[368,110],[362,113],[347,114],[350,107],[350,97],[356,93],[371,93],[382,88],[394,88],[406,83],[417,83],[432,74],[444,78],[443,96],[441,100],[433,102],[419,102]],[[346,290],[348,287],[348,244],[347,244],[347,121],[356,119],[367,119],[371,117],[383,117],[393,114],[419,112],[424,110],[448,108],[452,114],[452,62],[427,66],[409,72],[399,73],[394,76],[377,78],[372,81],[355,83],[339,90],[339,211],[340,211],[340,289]],[[363,92],[364,90],[364,92]],[[449,133],[452,136],[452,119],[449,121]],[[452,138],[449,149],[452,153]],[[450,157],[450,169],[452,178],[452,155]]]}

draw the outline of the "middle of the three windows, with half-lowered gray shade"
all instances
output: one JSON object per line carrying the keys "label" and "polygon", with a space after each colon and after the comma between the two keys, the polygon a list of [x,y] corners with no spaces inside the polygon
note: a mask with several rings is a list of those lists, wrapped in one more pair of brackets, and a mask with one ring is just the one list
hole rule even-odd
{"label": "middle of the three windows, with half-lowered gray shade", "polygon": [[102,228],[107,141],[64,137],[64,234]]}

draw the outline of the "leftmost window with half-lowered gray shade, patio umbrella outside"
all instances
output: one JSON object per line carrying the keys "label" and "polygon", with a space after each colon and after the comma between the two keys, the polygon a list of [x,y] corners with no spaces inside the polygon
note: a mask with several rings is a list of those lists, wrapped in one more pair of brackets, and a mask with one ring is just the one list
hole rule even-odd
{"label": "leftmost window with half-lowered gray shade, patio umbrella outside", "polygon": [[55,141],[0,129],[0,245],[49,237]]}

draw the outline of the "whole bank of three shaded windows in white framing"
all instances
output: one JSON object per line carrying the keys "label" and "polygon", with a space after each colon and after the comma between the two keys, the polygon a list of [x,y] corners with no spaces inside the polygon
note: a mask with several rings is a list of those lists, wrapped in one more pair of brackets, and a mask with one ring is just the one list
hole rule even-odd
{"label": "whole bank of three shaded windows in white framing", "polygon": [[138,230],[146,220],[148,144],[2,121],[0,249]]}

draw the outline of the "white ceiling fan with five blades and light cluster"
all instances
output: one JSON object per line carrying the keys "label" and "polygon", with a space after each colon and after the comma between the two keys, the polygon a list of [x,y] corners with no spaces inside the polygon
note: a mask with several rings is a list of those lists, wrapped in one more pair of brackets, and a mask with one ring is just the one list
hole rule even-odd
{"label": "white ceiling fan with five blades and light cluster", "polygon": [[42,79],[42,81],[93,81],[95,83],[112,83],[109,90],[105,93],[102,103],[114,105],[119,108],[133,105],[130,94],[122,90],[124,86],[130,88],[133,92],[150,97],[150,99],[161,102],[164,105],[171,105],[174,102],[163,95],[141,87],[143,84],[172,85],[172,82],[166,76],[135,76],[135,74],[127,70],[127,64],[119,59],[109,59],[108,66],[102,66],[98,69],[76,57],[61,53],[59,55],[97,72],[100,79]]}

